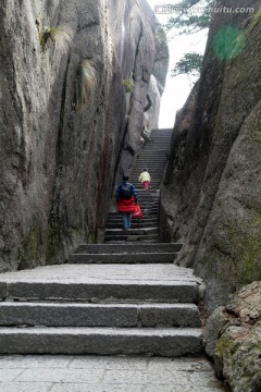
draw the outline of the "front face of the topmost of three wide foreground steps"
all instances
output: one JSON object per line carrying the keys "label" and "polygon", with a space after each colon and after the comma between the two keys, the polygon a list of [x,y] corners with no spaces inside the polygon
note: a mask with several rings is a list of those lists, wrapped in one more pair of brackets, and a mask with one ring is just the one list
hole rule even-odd
{"label": "front face of the topmost of three wide foreground steps", "polygon": [[109,283],[66,282],[13,282],[9,284],[8,297],[39,301],[159,301],[198,302],[197,283],[189,281],[142,282],[117,281]]}

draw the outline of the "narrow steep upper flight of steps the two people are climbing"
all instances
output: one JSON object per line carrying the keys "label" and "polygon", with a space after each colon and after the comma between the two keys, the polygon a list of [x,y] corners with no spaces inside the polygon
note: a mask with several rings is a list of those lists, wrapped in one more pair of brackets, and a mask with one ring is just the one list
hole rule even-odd
{"label": "narrow steep upper flight of steps the two people are climbing", "polygon": [[[147,142],[137,157],[130,181],[136,187],[138,203],[145,218],[133,220],[132,230],[122,230],[122,217],[117,212],[109,215],[105,243],[119,242],[157,242],[158,217],[160,203],[160,184],[166,166],[170,150],[172,130],[153,130],[150,142]],[[151,175],[150,188],[144,191],[138,182],[142,169],[147,168]]]}

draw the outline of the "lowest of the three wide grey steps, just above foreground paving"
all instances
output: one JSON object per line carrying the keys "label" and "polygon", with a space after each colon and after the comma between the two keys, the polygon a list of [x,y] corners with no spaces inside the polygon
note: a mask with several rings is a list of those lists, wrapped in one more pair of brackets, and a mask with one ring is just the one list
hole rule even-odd
{"label": "lowest of the three wide grey steps, just above foreground paving", "polygon": [[1,354],[201,355],[197,328],[0,328]]}

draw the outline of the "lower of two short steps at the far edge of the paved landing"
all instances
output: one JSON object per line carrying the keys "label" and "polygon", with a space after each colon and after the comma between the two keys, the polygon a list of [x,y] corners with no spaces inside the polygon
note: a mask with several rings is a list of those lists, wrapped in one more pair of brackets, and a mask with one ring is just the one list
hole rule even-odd
{"label": "lower of two short steps at the far edge of the paved landing", "polygon": [[137,254],[72,254],[70,264],[141,264],[141,262],[173,262],[175,253],[137,253]]}

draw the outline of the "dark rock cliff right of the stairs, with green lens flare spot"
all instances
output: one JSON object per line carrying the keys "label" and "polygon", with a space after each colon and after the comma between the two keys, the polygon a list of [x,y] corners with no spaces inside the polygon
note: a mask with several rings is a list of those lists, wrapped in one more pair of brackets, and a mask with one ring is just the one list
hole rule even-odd
{"label": "dark rock cliff right of the stairs, with green lens flare spot", "polygon": [[236,5],[256,13],[214,15],[162,189],[162,240],[184,241],[177,262],[206,280],[209,310],[261,280],[260,3]]}

